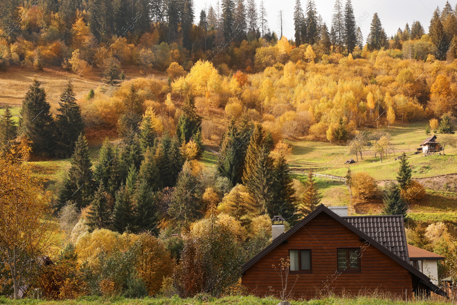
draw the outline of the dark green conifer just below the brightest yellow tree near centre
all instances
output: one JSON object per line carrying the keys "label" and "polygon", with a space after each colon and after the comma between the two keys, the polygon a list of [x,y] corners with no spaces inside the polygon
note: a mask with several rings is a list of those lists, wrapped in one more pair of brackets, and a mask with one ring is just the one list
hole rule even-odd
{"label": "dark green conifer just below the brightest yellow tree near centre", "polygon": [[182,114],[176,126],[176,136],[180,142],[187,143],[191,137],[202,130],[202,118],[195,109],[194,96],[188,95],[184,105],[181,107]]}

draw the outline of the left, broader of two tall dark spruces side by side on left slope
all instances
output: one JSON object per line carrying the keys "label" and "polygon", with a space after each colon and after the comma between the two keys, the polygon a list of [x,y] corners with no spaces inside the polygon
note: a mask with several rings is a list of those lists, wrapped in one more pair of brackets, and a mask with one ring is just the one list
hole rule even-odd
{"label": "left, broader of two tall dark spruces side by side on left slope", "polygon": [[55,122],[50,109],[41,83],[33,80],[22,102],[19,129],[32,142],[34,155],[54,155]]}

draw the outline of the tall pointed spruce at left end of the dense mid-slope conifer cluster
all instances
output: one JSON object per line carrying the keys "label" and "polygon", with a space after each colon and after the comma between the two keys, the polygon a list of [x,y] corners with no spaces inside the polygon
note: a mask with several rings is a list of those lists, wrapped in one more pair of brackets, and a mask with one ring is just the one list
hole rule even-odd
{"label": "tall pointed spruce at left end of the dense mid-slope conifer cluster", "polygon": [[67,177],[58,192],[60,207],[67,201],[73,201],[78,208],[84,208],[92,201],[94,187],[91,167],[87,140],[83,134],[80,134],[71,156]]}

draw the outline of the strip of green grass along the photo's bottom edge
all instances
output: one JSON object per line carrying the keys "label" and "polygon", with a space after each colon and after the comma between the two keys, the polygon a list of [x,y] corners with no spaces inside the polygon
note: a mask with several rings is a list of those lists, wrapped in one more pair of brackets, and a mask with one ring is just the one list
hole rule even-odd
{"label": "strip of green grass along the photo's bottom edge", "polygon": [[[213,298],[208,295],[197,295],[193,298],[181,299],[178,296],[171,298],[144,298],[144,299],[125,299],[120,296],[111,298],[101,298],[96,296],[81,297],[76,300],[63,301],[46,301],[46,300],[10,300],[0,297],[0,304],[7,305],[276,305],[280,302],[279,299],[272,297],[257,298],[254,296],[229,296],[224,298]],[[446,300],[441,297],[432,297],[429,300],[404,300],[383,297],[359,296],[359,297],[322,297],[314,300],[292,300],[292,305],[441,305],[451,304],[451,300]]]}

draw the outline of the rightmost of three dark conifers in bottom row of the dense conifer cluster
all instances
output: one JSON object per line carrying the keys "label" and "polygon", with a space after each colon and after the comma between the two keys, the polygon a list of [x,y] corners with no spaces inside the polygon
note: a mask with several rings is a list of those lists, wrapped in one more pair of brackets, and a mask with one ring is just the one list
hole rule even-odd
{"label": "rightmost of three dark conifers in bottom row of the dense conifer cluster", "polygon": [[159,202],[158,193],[154,193],[146,180],[140,179],[138,188],[133,195],[133,201],[135,203],[135,231],[151,231],[152,233],[157,234],[159,231],[157,228],[159,221],[157,217],[157,203]]}

